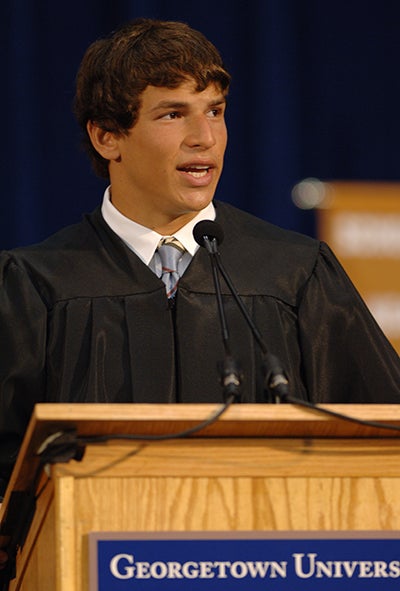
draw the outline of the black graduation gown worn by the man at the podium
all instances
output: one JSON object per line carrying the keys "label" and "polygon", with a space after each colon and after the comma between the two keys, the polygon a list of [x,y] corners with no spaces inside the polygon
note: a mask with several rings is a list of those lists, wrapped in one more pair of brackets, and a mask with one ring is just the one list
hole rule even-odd
{"label": "black graduation gown worn by the man at the podium", "polygon": [[[399,357],[329,248],[230,205],[216,210],[224,266],[291,393],[398,402]],[[242,401],[263,402],[259,347],[221,285]],[[171,310],[162,281],[97,209],[38,245],[2,254],[0,350],[0,464],[36,402],[222,401],[209,256],[196,253]]]}

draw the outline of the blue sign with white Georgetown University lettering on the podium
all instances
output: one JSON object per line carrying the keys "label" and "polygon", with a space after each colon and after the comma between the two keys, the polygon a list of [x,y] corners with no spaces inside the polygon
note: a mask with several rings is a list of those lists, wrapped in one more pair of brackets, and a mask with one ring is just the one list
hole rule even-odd
{"label": "blue sign with white Georgetown University lettering on the podium", "polygon": [[90,591],[386,591],[393,532],[93,533]]}

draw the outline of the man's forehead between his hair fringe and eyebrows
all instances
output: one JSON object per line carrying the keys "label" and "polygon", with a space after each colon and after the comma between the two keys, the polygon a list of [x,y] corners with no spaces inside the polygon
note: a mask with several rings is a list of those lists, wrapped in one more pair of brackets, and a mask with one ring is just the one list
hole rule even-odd
{"label": "man's forehead between his hair fringe and eyebrows", "polygon": [[182,82],[176,88],[165,86],[147,86],[141,94],[141,110],[163,108],[173,104],[213,104],[225,101],[225,94],[214,83],[198,91],[192,80]]}

